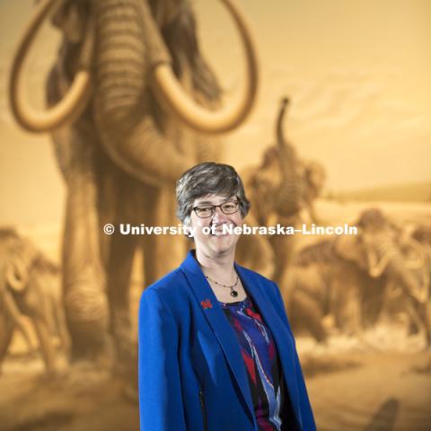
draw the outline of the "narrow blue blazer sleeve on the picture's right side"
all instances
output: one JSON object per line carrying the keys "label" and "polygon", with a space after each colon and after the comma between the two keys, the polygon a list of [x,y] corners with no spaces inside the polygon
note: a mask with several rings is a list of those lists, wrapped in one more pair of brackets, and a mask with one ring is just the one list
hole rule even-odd
{"label": "narrow blue blazer sleeve on the picture's right side", "polygon": [[[281,313],[281,317],[283,321],[285,321],[287,325],[287,329],[289,330],[292,338],[295,341],[294,334],[290,328],[289,321],[287,319],[286,307],[283,302],[283,298],[280,294],[280,289],[278,288],[276,283],[273,283],[275,287],[275,292],[277,296],[277,307],[279,312]],[[298,352],[296,351],[296,343],[295,343],[295,371],[297,377],[298,391],[299,391],[299,399],[301,401],[301,419],[303,421],[303,429],[306,431],[315,431],[316,424],[314,422],[314,416],[312,414],[312,405],[310,403],[310,399],[308,397],[307,388],[305,386],[305,381],[303,379],[303,369],[301,368],[301,364],[299,362]]]}

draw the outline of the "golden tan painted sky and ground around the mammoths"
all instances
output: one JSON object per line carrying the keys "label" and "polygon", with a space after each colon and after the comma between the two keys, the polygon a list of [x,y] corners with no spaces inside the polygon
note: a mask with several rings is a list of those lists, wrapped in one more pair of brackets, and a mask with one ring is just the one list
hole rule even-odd
{"label": "golden tan painted sky and ground around the mammoths", "polygon": [[[324,165],[324,197],[342,198],[317,202],[317,213],[323,219],[344,224],[365,207],[377,206],[398,221],[429,224],[431,2],[238,3],[247,12],[258,42],[261,83],[250,119],[225,136],[225,161],[240,171],[259,163],[273,142],[278,100],[288,95],[292,101],[288,136],[302,158]],[[204,50],[227,97],[232,97],[242,75],[232,22],[217,2],[194,0],[193,4]],[[18,128],[6,98],[13,48],[32,6],[31,0],[0,3],[0,225],[18,226],[58,262],[65,189],[50,139]],[[26,87],[36,106],[43,105],[44,81],[58,41],[57,31],[47,25],[29,58]],[[136,321],[143,286],[138,277],[132,282]],[[365,429],[366,423],[373,423],[374,411],[385,408],[387,400],[389,410],[383,409],[383,413],[396,416],[400,412],[402,423],[413,426],[378,429],[430,429],[429,355],[419,352],[418,339],[408,339],[398,328],[374,332],[374,341],[386,349],[382,355],[369,351],[365,355],[363,347],[349,344],[348,339],[339,339],[328,351],[316,348],[310,339],[298,343],[301,353],[312,356],[307,369],[321,373],[317,377],[307,374],[321,430]],[[68,391],[62,392],[66,397],[57,400],[53,393],[63,382],[54,388],[45,385],[43,377],[31,374],[32,370],[43,371],[40,356],[27,365],[15,361],[22,353],[22,343],[15,339],[13,349],[17,355],[6,361],[4,376],[0,376],[0,428],[7,423],[7,429],[18,429],[33,420],[31,429],[60,429],[56,424],[79,417],[79,425],[61,429],[97,431],[108,429],[106,424],[111,429],[137,429],[136,405],[123,398],[119,402],[116,397],[123,392],[117,383],[106,383],[104,377],[95,379],[92,391],[85,392],[87,377],[80,381],[75,375],[66,382],[70,383]],[[26,395],[31,391],[39,394],[37,409]],[[9,408],[10,393],[23,403],[16,412]],[[391,403],[394,399],[395,404]],[[33,410],[38,414],[33,415]],[[55,428],[48,427],[52,424]]]}

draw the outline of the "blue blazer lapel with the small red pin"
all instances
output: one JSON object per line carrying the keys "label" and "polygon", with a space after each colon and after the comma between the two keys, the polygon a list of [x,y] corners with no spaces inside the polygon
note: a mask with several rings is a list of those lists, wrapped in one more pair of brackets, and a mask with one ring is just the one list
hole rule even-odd
{"label": "blue blazer lapel with the small red pin", "polygon": [[242,391],[242,396],[249,409],[251,420],[255,422],[254,407],[251,400],[251,389],[247,377],[247,371],[242,359],[241,350],[233,329],[224,316],[224,312],[213,289],[209,286],[207,278],[200,269],[198,262],[189,251],[187,258],[182,262],[180,268],[186,276],[193,294],[196,296],[201,310],[206,317],[209,326],[216,334],[220,346],[224,351],[227,362],[230,365],[233,375]]}

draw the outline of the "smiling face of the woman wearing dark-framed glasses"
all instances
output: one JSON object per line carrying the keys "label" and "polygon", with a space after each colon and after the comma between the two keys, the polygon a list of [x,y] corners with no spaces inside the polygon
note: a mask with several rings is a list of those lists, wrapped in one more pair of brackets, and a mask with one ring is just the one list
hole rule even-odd
{"label": "smiling face of the woman wearing dark-framed glasses", "polygon": [[[208,206],[208,205],[221,205],[224,202],[237,201],[235,196],[226,198],[221,195],[209,194],[195,199],[192,207]],[[190,225],[194,228],[194,240],[196,250],[203,252],[207,256],[220,256],[235,251],[236,243],[238,242],[239,234],[223,233],[223,225],[227,226],[242,226],[241,210],[238,209],[233,214],[226,215],[222,212],[220,207],[217,207],[213,216],[208,218],[200,218],[195,211],[191,211]],[[213,233],[203,233],[202,229],[205,227],[213,227],[216,231]]]}

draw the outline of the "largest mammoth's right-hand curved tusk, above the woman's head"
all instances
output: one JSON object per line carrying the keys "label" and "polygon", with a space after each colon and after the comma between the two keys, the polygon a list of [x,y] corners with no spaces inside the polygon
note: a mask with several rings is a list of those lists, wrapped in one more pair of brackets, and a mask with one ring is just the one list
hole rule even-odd
{"label": "largest mammoth's right-hand curved tusk, above the woman's head", "polygon": [[233,21],[240,33],[248,71],[242,94],[235,103],[220,110],[206,110],[193,101],[189,94],[184,91],[170,65],[166,63],[154,65],[155,84],[158,85],[163,100],[172,112],[190,128],[211,134],[233,130],[247,118],[256,99],[259,81],[258,60],[249,26],[238,6],[233,4],[233,0],[221,0],[221,2],[232,14]]}

